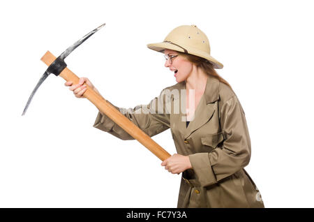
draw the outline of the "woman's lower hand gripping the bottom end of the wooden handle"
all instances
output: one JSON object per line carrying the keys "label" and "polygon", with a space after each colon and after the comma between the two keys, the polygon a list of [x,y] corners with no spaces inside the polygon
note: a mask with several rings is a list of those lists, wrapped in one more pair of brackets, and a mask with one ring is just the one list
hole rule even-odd
{"label": "woman's lower hand gripping the bottom end of the wooden handle", "polygon": [[184,170],[192,168],[192,165],[190,164],[190,158],[180,154],[173,154],[163,161],[161,165],[165,166],[165,170],[168,170],[173,174],[179,174],[180,172],[184,172]]}

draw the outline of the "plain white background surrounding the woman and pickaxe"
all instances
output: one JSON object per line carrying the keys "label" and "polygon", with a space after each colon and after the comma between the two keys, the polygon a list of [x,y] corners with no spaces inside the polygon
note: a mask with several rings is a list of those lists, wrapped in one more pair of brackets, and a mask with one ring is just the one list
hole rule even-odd
{"label": "plain white background surrounding the woman and pickaxe", "polygon": [[[94,128],[97,109],[50,75],[24,105],[56,56],[106,26],[66,62],[119,107],[147,104],[175,84],[163,41],[196,24],[224,64],[246,112],[252,156],[246,170],[265,207],[313,204],[312,1],[1,1],[0,207],[177,207],[172,175],[136,140]],[[170,130],[153,138],[176,152]]]}

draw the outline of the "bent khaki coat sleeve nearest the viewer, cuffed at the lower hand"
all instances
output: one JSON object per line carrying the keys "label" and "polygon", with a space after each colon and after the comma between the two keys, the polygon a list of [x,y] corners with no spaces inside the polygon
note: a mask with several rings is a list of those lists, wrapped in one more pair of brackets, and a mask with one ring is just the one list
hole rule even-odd
{"label": "bent khaki coat sleeve nearest the viewer, cuffed at the lower hand", "polygon": [[210,153],[189,156],[201,186],[219,182],[248,165],[251,158],[251,139],[244,110],[237,96],[232,96],[221,108],[220,125],[223,146]]}

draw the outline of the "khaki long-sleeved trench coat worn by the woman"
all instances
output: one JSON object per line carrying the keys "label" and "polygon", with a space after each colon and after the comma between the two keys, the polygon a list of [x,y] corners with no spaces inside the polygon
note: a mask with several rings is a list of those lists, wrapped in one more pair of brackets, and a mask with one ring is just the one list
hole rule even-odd
{"label": "khaki long-sleeved trench coat worn by the woman", "polygon": [[[193,169],[182,172],[177,207],[264,207],[260,191],[244,170],[251,158],[251,139],[234,91],[208,77],[195,117],[186,127],[182,89],[185,82],[163,89],[148,105],[115,106],[150,137],[170,128],[177,153],[189,156]],[[184,109],[178,111],[178,104]],[[101,112],[94,127],[134,140]]]}

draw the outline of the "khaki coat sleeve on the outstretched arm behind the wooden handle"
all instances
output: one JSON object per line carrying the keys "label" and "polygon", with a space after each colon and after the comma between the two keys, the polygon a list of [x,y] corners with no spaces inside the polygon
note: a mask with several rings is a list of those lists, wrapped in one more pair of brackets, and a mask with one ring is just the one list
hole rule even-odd
{"label": "khaki coat sleeve on the outstretched arm behind the wooden handle", "polygon": [[[160,95],[147,105],[137,105],[135,108],[119,108],[109,101],[119,112],[124,114],[130,121],[138,126],[150,137],[170,128],[170,114],[167,112],[167,95],[161,91]],[[121,140],[134,140],[134,138],[124,131],[118,124],[102,112],[98,112],[94,127],[110,133]]]}

